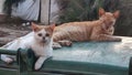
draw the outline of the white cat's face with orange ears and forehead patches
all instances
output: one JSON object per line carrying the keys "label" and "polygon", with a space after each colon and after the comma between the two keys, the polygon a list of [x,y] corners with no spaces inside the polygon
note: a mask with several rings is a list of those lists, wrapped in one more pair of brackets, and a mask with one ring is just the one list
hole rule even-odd
{"label": "white cat's face with orange ears and forehead patches", "polygon": [[55,25],[37,25],[32,23],[32,30],[34,31],[34,38],[40,43],[50,43],[52,40]]}

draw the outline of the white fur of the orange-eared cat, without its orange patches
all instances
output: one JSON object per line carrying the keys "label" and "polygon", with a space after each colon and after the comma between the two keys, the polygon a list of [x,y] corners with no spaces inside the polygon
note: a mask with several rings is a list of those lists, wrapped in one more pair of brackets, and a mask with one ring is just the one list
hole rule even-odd
{"label": "white fur of the orange-eared cat, without its orange patches", "polygon": [[[30,34],[19,38],[8,44],[6,44],[3,47],[7,50],[18,50],[18,49],[32,49],[35,53],[35,55],[38,57],[38,60],[35,63],[35,69],[41,68],[43,62],[53,55],[53,49],[52,49],[52,39],[45,38],[47,42],[42,43],[42,39],[37,36],[37,33],[42,33],[43,36],[45,35],[46,31],[41,30],[40,32],[31,32]],[[8,57],[8,55],[2,54],[1,60],[11,63],[13,62],[12,58]]]}

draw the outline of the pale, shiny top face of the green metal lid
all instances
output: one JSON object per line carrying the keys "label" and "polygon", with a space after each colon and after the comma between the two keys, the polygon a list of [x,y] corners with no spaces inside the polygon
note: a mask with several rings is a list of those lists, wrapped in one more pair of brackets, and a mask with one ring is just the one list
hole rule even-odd
{"label": "pale, shiny top face of the green metal lid", "polygon": [[132,39],[122,42],[76,42],[72,47],[55,50],[53,60],[98,63],[129,67]]}

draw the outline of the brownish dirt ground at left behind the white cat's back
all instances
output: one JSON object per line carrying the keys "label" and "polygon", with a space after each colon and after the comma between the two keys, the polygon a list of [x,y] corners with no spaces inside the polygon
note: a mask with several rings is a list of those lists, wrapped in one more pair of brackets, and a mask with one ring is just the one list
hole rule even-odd
{"label": "brownish dirt ground at left behind the white cat's back", "polygon": [[30,25],[16,23],[0,23],[0,46],[31,31]]}

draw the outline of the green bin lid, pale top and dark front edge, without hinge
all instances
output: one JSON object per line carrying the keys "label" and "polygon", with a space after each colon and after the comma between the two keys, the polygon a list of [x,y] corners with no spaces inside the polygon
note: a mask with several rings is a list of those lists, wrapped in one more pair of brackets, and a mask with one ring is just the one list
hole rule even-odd
{"label": "green bin lid, pale top and dark front edge, without hinge", "polygon": [[132,39],[122,39],[122,42],[76,42],[72,47],[55,50],[42,71],[128,75]]}

